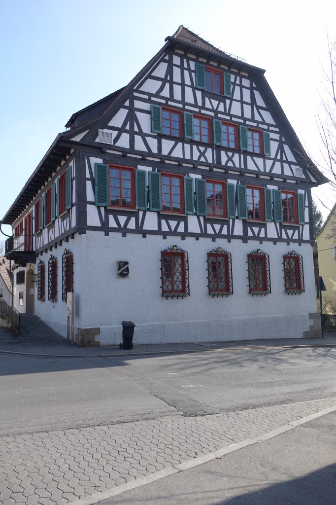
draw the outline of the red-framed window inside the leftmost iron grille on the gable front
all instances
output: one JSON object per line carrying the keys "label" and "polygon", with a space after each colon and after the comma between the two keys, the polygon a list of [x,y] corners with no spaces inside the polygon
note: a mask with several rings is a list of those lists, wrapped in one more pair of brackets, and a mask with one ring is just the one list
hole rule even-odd
{"label": "red-framed window inside the leftmost iron grille on the gable front", "polygon": [[186,294],[186,253],[161,251],[162,295]]}

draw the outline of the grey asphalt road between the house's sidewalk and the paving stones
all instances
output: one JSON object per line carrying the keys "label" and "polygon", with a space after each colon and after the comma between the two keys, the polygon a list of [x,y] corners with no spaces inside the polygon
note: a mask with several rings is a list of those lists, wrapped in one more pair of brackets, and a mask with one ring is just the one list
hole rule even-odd
{"label": "grey asphalt road between the house's sidewalk and the paving stones", "polygon": [[335,365],[336,349],[322,347],[111,358],[0,355],[0,436],[332,396]]}

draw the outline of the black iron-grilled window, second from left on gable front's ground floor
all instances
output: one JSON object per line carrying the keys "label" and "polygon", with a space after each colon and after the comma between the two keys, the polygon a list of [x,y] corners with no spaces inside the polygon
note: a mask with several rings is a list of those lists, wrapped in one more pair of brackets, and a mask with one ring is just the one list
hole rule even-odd
{"label": "black iron-grilled window, second from left on gable front's ground floor", "polygon": [[215,247],[207,256],[209,295],[212,298],[228,297],[233,294],[231,252],[222,247]]}

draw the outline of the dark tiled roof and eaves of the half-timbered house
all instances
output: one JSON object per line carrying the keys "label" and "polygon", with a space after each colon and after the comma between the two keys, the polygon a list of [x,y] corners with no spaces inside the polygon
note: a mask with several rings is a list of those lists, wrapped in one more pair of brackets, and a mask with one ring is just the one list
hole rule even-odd
{"label": "dark tiled roof and eaves of the half-timbered house", "polygon": [[92,125],[99,117],[102,118],[112,107],[118,107],[118,105],[126,99],[132,86],[134,86],[135,83],[137,83],[138,80],[142,78],[146,72],[148,72],[152,63],[161,54],[163,54],[167,47],[171,47],[173,50],[181,49],[181,51],[184,51],[187,54],[192,54],[196,58],[205,58],[209,62],[213,61],[218,64],[228,66],[229,69],[236,70],[238,72],[246,72],[251,76],[253,75],[255,82],[260,86],[260,89],[262,90],[266,100],[268,100],[272,110],[275,111],[279,125],[283,129],[285,135],[291,139],[291,146],[298,154],[301,162],[305,164],[306,168],[312,173],[317,181],[317,184],[324,184],[328,182],[328,179],[318,170],[303,148],[298,136],[296,135],[293,127],[288,121],[283,109],[279,105],[273,91],[264,77],[265,70],[246,63],[246,61],[242,58],[234,57],[229,53],[221,51],[221,49],[216,48],[214,45],[202,39],[199,35],[196,35],[183,25],[179,26],[178,30],[172,36],[166,37],[165,42],[166,44],[156,53],[156,55],[153,56],[153,58],[143,67],[142,70],[140,70],[140,72],[127,86],[105,96],[104,98],[101,98],[100,100],[97,100],[94,104],[81,109],[71,116],[66,127],[71,127],[72,129],[59,133],[55,138],[47,153],[31,177],[28,179],[19,196],[6,213],[2,221],[4,224],[12,225],[15,222],[26,206],[37,195],[41,187],[45,184],[45,182],[47,182],[48,178],[59,166],[60,162],[70,155],[71,149],[74,147],[71,143],[73,130],[78,129],[77,131],[81,131],[81,129],[86,128],[87,125]]}

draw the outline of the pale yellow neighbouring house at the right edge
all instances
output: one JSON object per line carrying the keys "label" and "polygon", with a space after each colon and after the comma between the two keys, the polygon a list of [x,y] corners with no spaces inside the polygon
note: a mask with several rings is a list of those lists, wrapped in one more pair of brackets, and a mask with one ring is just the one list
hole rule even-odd
{"label": "pale yellow neighbouring house at the right edge", "polygon": [[318,271],[326,287],[322,291],[323,313],[336,315],[336,204],[315,238]]}

